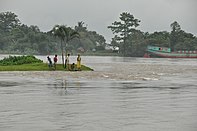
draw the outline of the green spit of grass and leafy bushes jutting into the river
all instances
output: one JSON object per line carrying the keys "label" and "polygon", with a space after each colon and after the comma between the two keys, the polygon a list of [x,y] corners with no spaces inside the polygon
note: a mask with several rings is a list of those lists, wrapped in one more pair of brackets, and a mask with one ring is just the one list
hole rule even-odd
{"label": "green spit of grass and leafy bushes jutting into the river", "polygon": [[[76,67],[76,65],[75,65]],[[0,71],[68,71],[62,67],[62,64],[57,64],[56,69],[49,67],[48,63],[43,63],[42,60],[35,56],[9,56],[0,60]],[[77,70],[71,70],[77,71]],[[93,71],[93,69],[82,65],[80,71]]]}

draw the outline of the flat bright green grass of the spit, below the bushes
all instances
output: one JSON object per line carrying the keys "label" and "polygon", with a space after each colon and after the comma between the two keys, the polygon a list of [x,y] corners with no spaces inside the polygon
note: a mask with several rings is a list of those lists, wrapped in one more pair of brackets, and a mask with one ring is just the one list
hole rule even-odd
{"label": "flat bright green grass of the spit, below the bushes", "polygon": [[[48,64],[46,63],[32,63],[32,64],[22,64],[22,65],[7,65],[7,66],[0,66],[0,71],[50,71],[54,70],[54,68],[49,68]],[[57,71],[66,71],[62,64],[56,65]],[[93,71],[93,69],[82,65],[82,71]]]}

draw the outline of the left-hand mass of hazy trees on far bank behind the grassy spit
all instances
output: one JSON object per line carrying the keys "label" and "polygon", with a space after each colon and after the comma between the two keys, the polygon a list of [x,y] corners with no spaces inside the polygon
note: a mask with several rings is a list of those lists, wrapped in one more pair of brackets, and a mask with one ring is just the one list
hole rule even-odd
{"label": "left-hand mass of hazy trees on far bank behind the grassy spit", "polygon": [[[66,30],[60,29],[59,32],[57,27]],[[74,39],[74,32],[79,32],[80,37]],[[70,53],[86,52],[95,49],[97,43],[104,49],[104,37],[94,31],[88,31],[83,24],[78,24],[75,29],[56,25],[52,31],[42,32],[38,26],[21,24],[18,16],[12,12],[0,13],[0,53],[60,54],[62,49],[65,50],[64,47]]]}

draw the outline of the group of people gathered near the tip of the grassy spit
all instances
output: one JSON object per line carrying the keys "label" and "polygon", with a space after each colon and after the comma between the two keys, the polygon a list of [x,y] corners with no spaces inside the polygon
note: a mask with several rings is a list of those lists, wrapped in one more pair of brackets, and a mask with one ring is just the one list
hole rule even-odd
{"label": "group of people gathered near the tip of the grassy spit", "polygon": [[[70,54],[67,54],[66,59],[65,59],[65,69],[66,70],[72,70],[72,71],[74,71],[74,70],[79,70],[80,71],[81,70],[80,54],[78,54],[78,56],[77,56],[77,66],[76,67],[75,67],[75,63],[72,63],[72,64],[69,63],[69,57],[70,57]],[[58,61],[57,55],[55,55],[55,57],[53,58],[54,63],[52,62],[52,60],[49,56],[47,56],[47,60],[48,60],[49,68],[54,67],[54,70],[56,70],[56,64],[57,64],[57,61]]]}

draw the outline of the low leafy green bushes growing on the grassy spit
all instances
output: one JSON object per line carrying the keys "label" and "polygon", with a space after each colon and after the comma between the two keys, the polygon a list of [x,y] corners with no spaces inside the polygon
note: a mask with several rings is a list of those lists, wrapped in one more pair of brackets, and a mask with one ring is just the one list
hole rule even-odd
{"label": "low leafy green bushes growing on the grassy spit", "polygon": [[32,64],[32,63],[43,63],[42,60],[37,59],[35,56],[9,56],[0,60],[1,66],[8,65],[22,65],[22,64]]}

